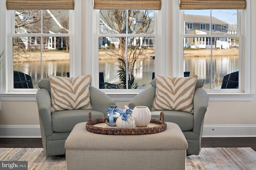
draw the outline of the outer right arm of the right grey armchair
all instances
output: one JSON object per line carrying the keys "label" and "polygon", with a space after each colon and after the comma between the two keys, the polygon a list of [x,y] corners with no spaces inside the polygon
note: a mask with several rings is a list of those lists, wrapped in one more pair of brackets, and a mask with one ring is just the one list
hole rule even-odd
{"label": "outer right arm of the right grey armchair", "polygon": [[207,92],[203,88],[197,88],[194,94],[194,126],[193,132],[200,134],[200,129],[204,120],[209,103]]}

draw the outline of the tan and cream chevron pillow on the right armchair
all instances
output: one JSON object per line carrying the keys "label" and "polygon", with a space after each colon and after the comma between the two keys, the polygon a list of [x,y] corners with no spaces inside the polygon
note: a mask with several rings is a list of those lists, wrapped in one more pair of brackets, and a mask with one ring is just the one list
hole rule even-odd
{"label": "tan and cream chevron pillow on the right armchair", "polygon": [[197,76],[168,77],[156,75],[156,96],[151,111],[175,110],[193,113]]}

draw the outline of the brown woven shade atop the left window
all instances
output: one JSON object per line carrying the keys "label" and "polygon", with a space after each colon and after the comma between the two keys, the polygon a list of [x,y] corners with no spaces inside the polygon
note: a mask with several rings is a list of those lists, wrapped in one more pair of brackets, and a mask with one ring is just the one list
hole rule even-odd
{"label": "brown woven shade atop the left window", "polygon": [[6,0],[7,10],[74,10],[74,0]]}

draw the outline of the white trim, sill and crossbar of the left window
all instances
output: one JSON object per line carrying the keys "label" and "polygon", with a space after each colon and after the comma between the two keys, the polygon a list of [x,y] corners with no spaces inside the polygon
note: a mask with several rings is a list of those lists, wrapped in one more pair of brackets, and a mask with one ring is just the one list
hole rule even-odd
{"label": "white trim, sill and crossbar of the left window", "polygon": [[[24,34],[14,33],[14,10],[6,9],[6,1],[0,1],[1,23],[6,27],[0,30],[1,48],[4,49],[4,69],[1,71],[1,100],[6,101],[36,101],[37,89],[14,89],[13,88],[13,56],[12,37],[24,37]],[[70,33],[70,76],[81,75],[81,1],[75,0],[74,10],[69,12]],[[29,34],[29,37],[38,37],[39,34]],[[41,34],[42,37],[64,37],[67,34]],[[3,38],[4,37],[4,38]],[[2,44],[6,42],[6,44]],[[76,57],[73,57],[76,56]]]}

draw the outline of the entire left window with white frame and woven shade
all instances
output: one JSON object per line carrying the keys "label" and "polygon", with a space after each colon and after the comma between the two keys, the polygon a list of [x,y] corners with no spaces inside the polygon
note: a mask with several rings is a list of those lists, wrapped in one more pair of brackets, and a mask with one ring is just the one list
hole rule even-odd
{"label": "entire left window with white frame and woven shade", "polygon": [[[35,100],[37,82],[50,74],[67,76],[70,71],[71,76],[81,75],[78,64],[78,61],[81,63],[81,41],[77,38],[81,32],[72,31],[74,25],[80,27],[81,10],[74,9],[74,0],[65,0],[62,4],[48,1],[46,5],[51,10],[36,10],[38,5],[39,9],[45,6],[40,3],[27,6],[22,0],[0,1],[0,4],[1,21],[6,23],[0,37],[1,41],[6,40],[6,65],[1,71],[2,100]],[[80,1],[76,4],[81,6]],[[18,9],[30,7],[34,9]],[[49,51],[54,55],[49,55]]]}

